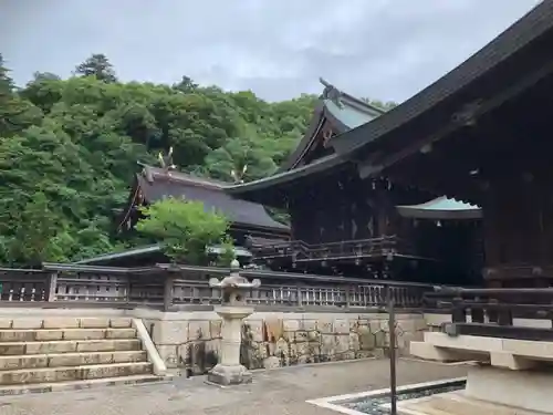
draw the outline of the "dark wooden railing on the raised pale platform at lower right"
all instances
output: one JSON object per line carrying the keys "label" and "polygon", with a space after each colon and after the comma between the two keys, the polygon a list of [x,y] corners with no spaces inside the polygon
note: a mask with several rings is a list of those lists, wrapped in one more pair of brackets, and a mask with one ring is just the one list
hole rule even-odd
{"label": "dark wooden railing on the raised pale platform at lower right", "polygon": [[553,288],[440,288],[427,292],[425,303],[451,313],[452,323],[442,328],[450,335],[553,341]]}

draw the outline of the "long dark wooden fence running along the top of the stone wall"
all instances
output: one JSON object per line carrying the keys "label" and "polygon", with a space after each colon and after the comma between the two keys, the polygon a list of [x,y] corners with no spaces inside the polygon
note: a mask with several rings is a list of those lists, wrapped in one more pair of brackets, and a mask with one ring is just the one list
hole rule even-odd
{"label": "long dark wooden fence running along the top of the stone wall", "polygon": [[[108,304],[164,307],[221,302],[221,291],[210,288],[210,277],[225,277],[225,268],[173,267],[111,268],[69,264],[45,264],[43,270],[4,270],[1,302],[55,303],[79,305]],[[398,308],[424,305],[424,293],[430,286],[348,279],[288,272],[242,270],[248,278],[262,283],[247,294],[252,305],[272,307],[383,307],[392,295]]]}

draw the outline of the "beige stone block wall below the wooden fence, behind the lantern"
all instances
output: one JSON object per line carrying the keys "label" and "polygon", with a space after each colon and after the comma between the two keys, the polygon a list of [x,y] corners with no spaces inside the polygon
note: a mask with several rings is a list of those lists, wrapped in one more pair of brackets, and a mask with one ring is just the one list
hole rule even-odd
{"label": "beige stone block wall below the wooden fence, behind the lantern", "polygon": [[[218,361],[221,320],[212,311],[138,313],[168,367],[202,374]],[[397,349],[427,329],[421,314],[396,317]],[[382,356],[389,345],[387,314],[332,312],[255,312],[242,324],[242,364],[278,367]]]}

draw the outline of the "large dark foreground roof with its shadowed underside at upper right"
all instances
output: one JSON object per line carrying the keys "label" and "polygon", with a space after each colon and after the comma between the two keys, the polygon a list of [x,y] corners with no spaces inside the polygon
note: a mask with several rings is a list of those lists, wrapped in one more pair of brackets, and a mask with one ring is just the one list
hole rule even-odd
{"label": "large dark foreground roof with its shadowed underside at upper right", "polygon": [[553,1],[543,1],[436,83],[332,144],[357,160],[362,178],[384,175],[481,205],[492,170],[546,146],[552,49]]}

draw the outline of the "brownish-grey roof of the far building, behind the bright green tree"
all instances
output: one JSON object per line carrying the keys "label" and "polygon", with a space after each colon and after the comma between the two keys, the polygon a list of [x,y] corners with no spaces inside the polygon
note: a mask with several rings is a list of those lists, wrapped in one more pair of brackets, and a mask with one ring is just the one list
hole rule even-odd
{"label": "brownish-grey roof of the far building, behind the bright green tree", "polygon": [[204,203],[206,210],[217,210],[233,225],[258,227],[285,232],[289,227],[272,219],[262,205],[238,199],[225,191],[230,184],[189,174],[145,166],[136,183],[146,203],[166,197]]}

